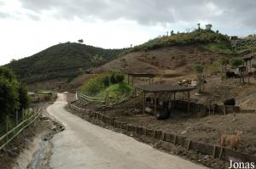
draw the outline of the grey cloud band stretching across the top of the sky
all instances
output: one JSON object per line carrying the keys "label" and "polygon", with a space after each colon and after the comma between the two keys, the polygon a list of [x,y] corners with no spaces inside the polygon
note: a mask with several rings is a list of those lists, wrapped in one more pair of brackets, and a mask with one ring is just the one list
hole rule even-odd
{"label": "grey cloud band stretching across the top of the sky", "polygon": [[256,27],[255,0],[26,0],[20,3],[36,13],[55,9],[55,17],[67,20],[74,17],[125,19],[142,25],[207,20],[218,25]]}

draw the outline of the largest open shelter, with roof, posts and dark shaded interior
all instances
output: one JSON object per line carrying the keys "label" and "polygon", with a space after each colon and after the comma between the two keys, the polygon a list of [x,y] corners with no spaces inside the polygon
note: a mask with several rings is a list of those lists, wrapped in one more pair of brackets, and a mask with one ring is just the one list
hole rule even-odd
{"label": "largest open shelter, with roof, posts and dark shaded interior", "polygon": [[[190,91],[195,87],[183,87],[166,84],[138,86],[143,91],[143,112],[156,115],[157,119],[170,116],[190,115]],[[177,93],[185,93],[187,99],[177,100]]]}

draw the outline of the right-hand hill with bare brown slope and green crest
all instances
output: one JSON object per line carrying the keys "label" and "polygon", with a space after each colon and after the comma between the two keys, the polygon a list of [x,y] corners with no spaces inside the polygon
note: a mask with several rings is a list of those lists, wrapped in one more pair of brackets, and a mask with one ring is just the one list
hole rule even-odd
{"label": "right-hand hill with bare brown slope and green crest", "polygon": [[129,53],[95,71],[148,72],[176,77],[193,74],[192,65],[201,63],[206,66],[207,73],[212,73],[219,71],[218,59],[231,59],[252,51],[256,51],[256,41],[252,38],[230,40],[230,37],[218,31],[195,30],[156,37],[131,48]]}

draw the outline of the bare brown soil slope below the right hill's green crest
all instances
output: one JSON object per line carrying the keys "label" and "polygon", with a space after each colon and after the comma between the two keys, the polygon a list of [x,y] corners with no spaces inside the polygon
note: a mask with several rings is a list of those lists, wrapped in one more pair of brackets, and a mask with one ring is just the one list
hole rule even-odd
{"label": "bare brown soil slope below the right hill's green crest", "polygon": [[121,70],[123,72],[157,73],[166,77],[184,76],[191,74],[191,66],[195,63],[210,65],[220,56],[230,57],[209,52],[195,45],[174,46],[126,54],[102,65],[95,71]]}

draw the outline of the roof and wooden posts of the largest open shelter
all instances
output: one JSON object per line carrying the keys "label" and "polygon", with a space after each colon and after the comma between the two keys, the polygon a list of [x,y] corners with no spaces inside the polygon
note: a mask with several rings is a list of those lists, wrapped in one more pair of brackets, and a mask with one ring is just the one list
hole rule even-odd
{"label": "roof and wooden posts of the largest open shelter", "polygon": [[143,91],[143,112],[145,112],[146,107],[146,93],[153,93],[154,94],[154,114],[156,114],[156,99],[157,95],[160,97],[166,97],[166,95],[173,94],[173,100],[175,100],[176,93],[187,93],[188,97],[188,105],[187,110],[188,113],[190,112],[190,91],[194,90],[195,87],[184,87],[180,85],[170,85],[170,84],[151,84],[147,86],[138,86],[137,89]]}

